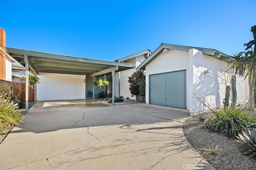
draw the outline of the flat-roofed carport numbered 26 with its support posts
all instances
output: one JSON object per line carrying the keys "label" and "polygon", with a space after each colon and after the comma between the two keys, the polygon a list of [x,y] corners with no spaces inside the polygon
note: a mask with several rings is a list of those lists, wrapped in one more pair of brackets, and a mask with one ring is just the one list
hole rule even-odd
{"label": "flat-roofed carport numbered 26 with its support posts", "polygon": [[[118,71],[134,68],[134,64],[119,63],[114,61],[104,61],[97,59],[89,59],[84,57],[75,57],[70,55],[59,55],[53,53],[45,53],[40,51],[32,51],[27,49],[19,49],[14,47],[6,47],[8,53],[16,61],[26,68],[26,113],[28,113],[28,75],[29,68],[34,75],[41,73],[60,73],[72,75],[90,75],[90,77],[103,75],[106,73],[114,75]],[[92,85],[93,86],[93,85]],[[112,105],[114,106],[114,84],[112,85]],[[94,94],[94,88],[93,94]],[[35,86],[35,103],[36,103],[36,86]],[[94,100],[94,95],[93,95]]]}

